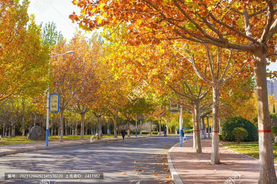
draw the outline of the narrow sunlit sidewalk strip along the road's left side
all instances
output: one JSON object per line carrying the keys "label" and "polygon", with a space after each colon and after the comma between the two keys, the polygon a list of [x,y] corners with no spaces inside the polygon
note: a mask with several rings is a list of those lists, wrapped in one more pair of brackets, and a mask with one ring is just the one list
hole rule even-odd
{"label": "narrow sunlit sidewalk strip along the road's left side", "polygon": [[[153,136],[153,135],[152,135]],[[157,135],[155,135],[157,136]],[[158,135],[159,136],[159,135]],[[140,136],[125,136],[125,139],[137,139],[137,138],[146,138],[151,137],[148,135]],[[44,142],[35,142],[35,143],[25,143],[25,144],[8,144],[0,146],[0,156],[1,155],[9,155],[14,153],[26,152],[26,151],[34,151],[34,150],[42,150],[42,149],[51,149],[51,148],[61,148],[67,146],[76,146],[81,144],[95,144],[99,142],[105,141],[113,141],[113,140],[122,140],[122,137],[114,138],[114,137],[107,137],[102,138],[101,140],[93,139],[93,142],[90,142],[89,139],[85,140],[64,140],[62,143],[59,141],[50,141],[48,142],[48,146],[45,146]]]}

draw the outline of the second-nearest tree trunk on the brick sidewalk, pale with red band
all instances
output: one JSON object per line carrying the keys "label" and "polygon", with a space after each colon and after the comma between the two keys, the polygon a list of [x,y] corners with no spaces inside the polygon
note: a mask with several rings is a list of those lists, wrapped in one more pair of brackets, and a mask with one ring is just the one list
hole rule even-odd
{"label": "second-nearest tree trunk on the brick sidewalk, pale with red band", "polygon": [[220,164],[218,147],[218,117],[219,116],[219,84],[214,82],[213,86],[213,136],[211,164]]}

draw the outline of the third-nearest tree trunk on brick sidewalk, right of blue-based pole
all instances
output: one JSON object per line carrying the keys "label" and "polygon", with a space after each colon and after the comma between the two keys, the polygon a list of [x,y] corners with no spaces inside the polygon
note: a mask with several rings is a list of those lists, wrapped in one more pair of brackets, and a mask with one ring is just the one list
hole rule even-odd
{"label": "third-nearest tree trunk on brick sidewalk, right of blue-based pole", "polygon": [[195,100],[195,134],[196,134],[196,153],[202,153],[201,134],[200,134],[200,101]]}

